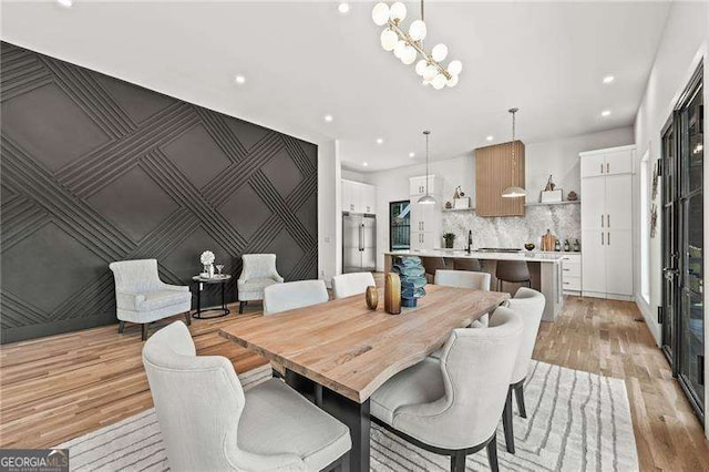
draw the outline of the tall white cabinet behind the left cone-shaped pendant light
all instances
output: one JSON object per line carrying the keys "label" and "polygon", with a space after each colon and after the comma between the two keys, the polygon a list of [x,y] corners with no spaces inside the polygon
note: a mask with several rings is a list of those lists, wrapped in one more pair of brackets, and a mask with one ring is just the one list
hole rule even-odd
{"label": "tall white cabinet behind the left cone-shaped pendant light", "polygon": [[438,201],[433,205],[419,205],[417,201],[425,195],[427,176],[411,177],[409,179],[409,193],[411,196],[411,249],[434,249],[442,243],[442,181],[435,175],[428,176],[429,194]]}

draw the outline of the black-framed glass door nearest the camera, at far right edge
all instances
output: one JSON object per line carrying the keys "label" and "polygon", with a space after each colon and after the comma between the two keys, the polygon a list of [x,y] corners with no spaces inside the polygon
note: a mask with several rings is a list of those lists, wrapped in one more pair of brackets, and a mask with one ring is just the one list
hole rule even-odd
{"label": "black-framed glass door nearest the camera, at far right edge", "polygon": [[680,102],[679,124],[679,380],[703,415],[703,94],[701,74]]}

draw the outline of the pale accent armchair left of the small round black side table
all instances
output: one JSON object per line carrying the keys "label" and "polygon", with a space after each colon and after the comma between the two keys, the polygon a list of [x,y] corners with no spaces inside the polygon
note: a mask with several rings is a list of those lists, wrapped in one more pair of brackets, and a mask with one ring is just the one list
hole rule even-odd
{"label": "pale accent armchair left of the small round black side table", "polygon": [[163,283],[157,274],[156,259],[121,260],[109,264],[109,268],[115,279],[120,334],[125,321],[135,322],[142,325],[142,337],[146,340],[151,322],[182,312],[189,325],[189,287]]}

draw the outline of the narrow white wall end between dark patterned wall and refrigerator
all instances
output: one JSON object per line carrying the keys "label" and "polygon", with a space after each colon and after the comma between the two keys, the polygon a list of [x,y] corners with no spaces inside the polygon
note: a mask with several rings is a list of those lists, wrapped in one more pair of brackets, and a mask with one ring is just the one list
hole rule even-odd
{"label": "narrow white wall end between dark patterned wall and refrigerator", "polygon": [[330,284],[342,271],[339,143],[318,144],[318,277]]}

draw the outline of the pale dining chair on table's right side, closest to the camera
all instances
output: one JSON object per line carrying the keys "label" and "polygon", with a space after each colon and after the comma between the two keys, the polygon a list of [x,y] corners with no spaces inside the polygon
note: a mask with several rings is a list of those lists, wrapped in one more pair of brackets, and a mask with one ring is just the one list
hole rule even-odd
{"label": "pale dining chair on table's right side, closest to the camera", "polygon": [[377,423],[450,455],[454,472],[464,471],[466,455],[483,448],[497,470],[495,431],[524,327],[508,308],[497,308],[492,318],[493,328],[453,330],[440,360],[429,357],[399,372],[370,398]]}

